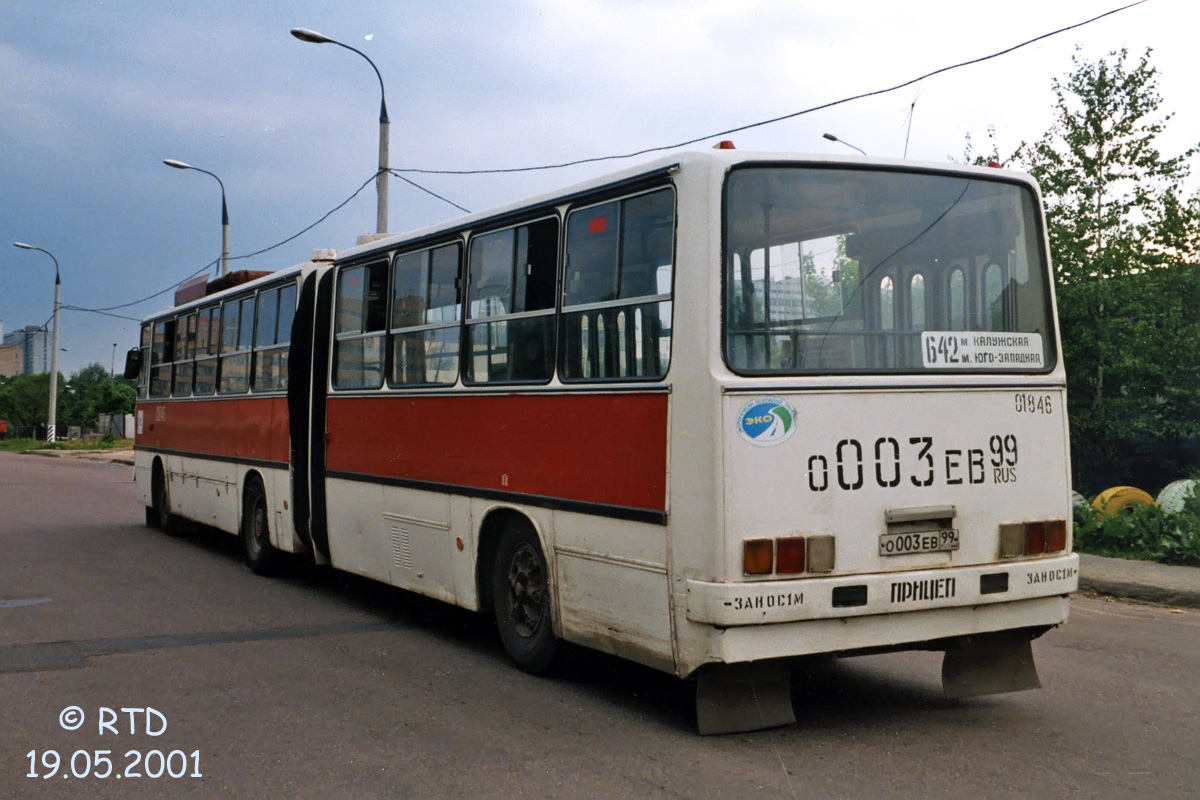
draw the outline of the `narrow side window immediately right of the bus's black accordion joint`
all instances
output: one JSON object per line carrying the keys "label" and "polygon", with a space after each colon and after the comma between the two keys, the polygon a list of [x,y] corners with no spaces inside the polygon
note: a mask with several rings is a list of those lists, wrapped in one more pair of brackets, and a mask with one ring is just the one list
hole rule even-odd
{"label": "narrow side window immediately right of the bus's black accordion joint", "polygon": [[343,269],[337,276],[335,389],[383,385],[386,317],[388,263]]}

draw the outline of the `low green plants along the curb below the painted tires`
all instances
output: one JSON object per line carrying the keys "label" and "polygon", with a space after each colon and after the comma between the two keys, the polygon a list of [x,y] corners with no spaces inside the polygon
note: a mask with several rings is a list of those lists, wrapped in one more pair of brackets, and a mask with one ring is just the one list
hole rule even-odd
{"label": "low green plants along the curb below the painted tires", "polygon": [[1075,506],[1075,549],[1200,565],[1200,497],[1187,498],[1178,513],[1166,513],[1158,506],[1133,506],[1108,516],[1090,506]]}

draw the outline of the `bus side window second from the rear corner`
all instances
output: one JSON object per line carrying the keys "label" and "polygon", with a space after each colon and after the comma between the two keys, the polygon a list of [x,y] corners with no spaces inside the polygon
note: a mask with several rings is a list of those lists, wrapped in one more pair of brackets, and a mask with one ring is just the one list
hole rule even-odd
{"label": "bus side window second from the rear corner", "polygon": [[466,380],[550,380],[558,219],[474,237],[469,272]]}

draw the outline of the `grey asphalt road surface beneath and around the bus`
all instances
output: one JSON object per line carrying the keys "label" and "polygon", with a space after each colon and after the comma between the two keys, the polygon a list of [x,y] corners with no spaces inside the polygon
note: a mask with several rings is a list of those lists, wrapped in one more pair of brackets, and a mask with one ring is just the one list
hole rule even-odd
{"label": "grey asphalt road surface beneath and around the bus", "polygon": [[847,660],[794,675],[794,727],[701,738],[668,675],[530,678],[474,614],[142,519],[128,467],[0,453],[0,798],[1200,796],[1196,610],[1080,596],[1040,691]]}

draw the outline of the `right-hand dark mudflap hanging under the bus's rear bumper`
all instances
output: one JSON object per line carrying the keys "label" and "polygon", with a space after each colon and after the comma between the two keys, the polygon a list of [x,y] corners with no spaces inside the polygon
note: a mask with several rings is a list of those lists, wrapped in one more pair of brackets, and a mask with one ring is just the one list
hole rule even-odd
{"label": "right-hand dark mudflap hanging under the bus's rear bumper", "polygon": [[949,698],[1040,687],[1033,664],[1032,638],[1025,631],[968,637],[962,644],[948,649],[942,661],[942,690]]}

